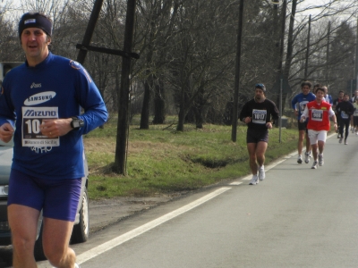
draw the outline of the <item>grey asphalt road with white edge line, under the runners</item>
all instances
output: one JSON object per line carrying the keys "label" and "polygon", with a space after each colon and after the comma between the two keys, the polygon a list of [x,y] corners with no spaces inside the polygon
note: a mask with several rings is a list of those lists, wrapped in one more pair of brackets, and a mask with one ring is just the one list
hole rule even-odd
{"label": "grey asphalt road with white edge line, under the runners", "polygon": [[[357,267],[358,137],[328,138],[325,164],[296,154],[267,178],[217,185],[111,224],[74,245],[90,267]],[[47,262],[38,267],[50,267]]]}

